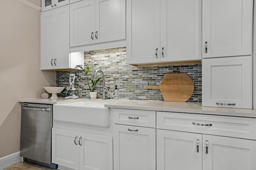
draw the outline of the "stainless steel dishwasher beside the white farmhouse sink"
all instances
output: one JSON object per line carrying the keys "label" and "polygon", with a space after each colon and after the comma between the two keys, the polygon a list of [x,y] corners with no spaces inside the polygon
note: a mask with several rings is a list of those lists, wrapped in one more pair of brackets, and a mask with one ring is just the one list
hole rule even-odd
{"label": "stainless steel dishwasher beside the white farmhouse sink", "polygon": [[50,167],[51,131],[52,105],[22,103],[20,156]]}

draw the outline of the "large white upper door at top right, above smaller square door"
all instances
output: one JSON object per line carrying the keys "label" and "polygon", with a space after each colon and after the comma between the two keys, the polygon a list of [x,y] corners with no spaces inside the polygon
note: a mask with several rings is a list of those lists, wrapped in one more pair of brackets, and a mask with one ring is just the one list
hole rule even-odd
{"label": "large white upper door at top right, above smaller square door", "polygon": [[203,0],[202,9],[203,58],[252,54],[253,0]]}

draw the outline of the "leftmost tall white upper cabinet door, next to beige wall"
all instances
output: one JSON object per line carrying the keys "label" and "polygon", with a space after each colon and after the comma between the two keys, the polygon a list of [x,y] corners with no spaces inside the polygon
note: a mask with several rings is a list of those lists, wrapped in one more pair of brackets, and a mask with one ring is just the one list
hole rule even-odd
{"label": "leftmost tall white upper cabinet door, next to beige wall", "polygon": [[54,11],[41,14],[41,69],[54,67],[55,35]]}

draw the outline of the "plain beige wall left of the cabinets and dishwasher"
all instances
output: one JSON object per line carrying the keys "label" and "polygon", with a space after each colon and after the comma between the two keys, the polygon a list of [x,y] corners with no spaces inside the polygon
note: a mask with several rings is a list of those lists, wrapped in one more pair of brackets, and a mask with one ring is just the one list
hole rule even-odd
{"label": "plain beige wall left of the cabinets and dishwasher", "polygon": [[18,99],[40,97],[43,86],[55,86],[56,73],[40,71],[39,11],[16,0],[3,0],[0,23],[1,158],[20,150]]}

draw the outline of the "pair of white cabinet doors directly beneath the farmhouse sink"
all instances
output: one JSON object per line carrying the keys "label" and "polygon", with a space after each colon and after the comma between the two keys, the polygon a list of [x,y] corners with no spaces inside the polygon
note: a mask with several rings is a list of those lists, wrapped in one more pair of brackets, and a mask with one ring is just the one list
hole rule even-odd
{"label": "pair of white cabinet doors directly beneath the farmhouse sink", "polygon": [[52,128],[52,162],[74,170],[112,170],[113,138]]}

